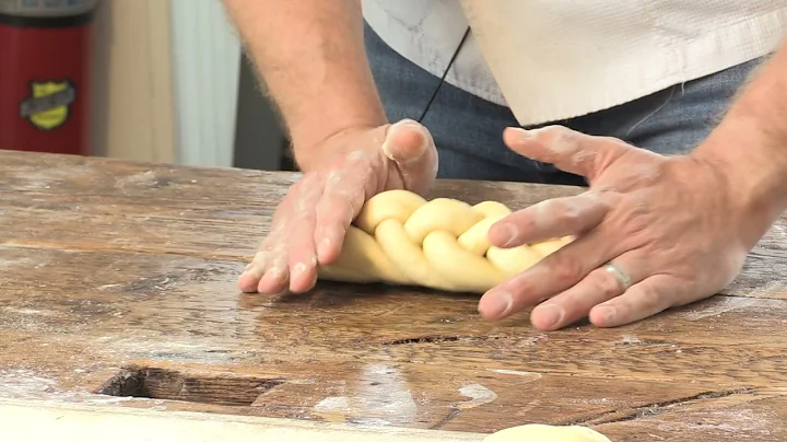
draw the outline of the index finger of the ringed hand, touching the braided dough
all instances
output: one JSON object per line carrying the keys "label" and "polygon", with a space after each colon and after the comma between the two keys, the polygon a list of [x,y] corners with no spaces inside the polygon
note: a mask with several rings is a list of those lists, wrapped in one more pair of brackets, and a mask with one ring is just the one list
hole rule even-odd
{"label": "index finger of the ringed hand, touching the braided dough", "polygon": [[492,225],[489,240],[497,247],[517,247],[553,237],[579,235],[597,226],[610,205],[603,194],[584,194],[548,199],[516,211]]}

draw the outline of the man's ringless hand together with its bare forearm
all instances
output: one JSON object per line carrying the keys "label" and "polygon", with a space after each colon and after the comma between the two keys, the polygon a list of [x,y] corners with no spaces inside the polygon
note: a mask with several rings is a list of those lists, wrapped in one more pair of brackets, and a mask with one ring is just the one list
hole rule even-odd
{"label": "man's ringless hand together with its bare forearm", "polygon": [[293,142],[303,178],[240,276],[245,292],[314,287],[363,203],[395,188],[425,193],[437,174],[430,132],[390,126],[363,46],[361,0],[224,0]]}

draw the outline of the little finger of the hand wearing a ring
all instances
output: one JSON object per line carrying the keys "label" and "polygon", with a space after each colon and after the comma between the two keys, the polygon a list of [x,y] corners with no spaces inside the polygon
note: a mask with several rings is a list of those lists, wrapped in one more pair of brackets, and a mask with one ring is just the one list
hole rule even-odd
{"label": "little finger of the hand wearing a ring", "polygon": [[589,314],[597,327],[618,327],[644,319],[669,307],[695,301],[691,288],[670,275],[655,275],[625,293],[595,306]]}

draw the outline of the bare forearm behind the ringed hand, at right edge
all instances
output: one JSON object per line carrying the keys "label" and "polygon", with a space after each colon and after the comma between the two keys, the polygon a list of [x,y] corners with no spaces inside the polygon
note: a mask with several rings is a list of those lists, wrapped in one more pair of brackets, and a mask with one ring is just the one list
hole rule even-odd
{"label": "bare forearm behind the ringed hand, at right edge", "polygon": [[739,91],[693,155],[718,164],[752,216],[772,222],[787,210],[787,44]]}

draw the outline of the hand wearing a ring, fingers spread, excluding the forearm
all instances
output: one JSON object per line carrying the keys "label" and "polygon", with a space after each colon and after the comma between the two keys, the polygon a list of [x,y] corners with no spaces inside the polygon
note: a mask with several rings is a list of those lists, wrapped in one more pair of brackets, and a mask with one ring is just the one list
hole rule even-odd
{"label": "hand wearing a ring, fingers spread, excluding the forearm", "polygon": [[501,247],[563,235],[576,241],[484,294],[479,311],[488,319],[538,305],[531,322],[542,330],[584,317],[600,327],[632,323],[719,292],[768,228],[750,217],[714,163],[559,126],[507,129],[504,138],[525,156],[587,177],[590,188],[493,225],[490,241]]}

